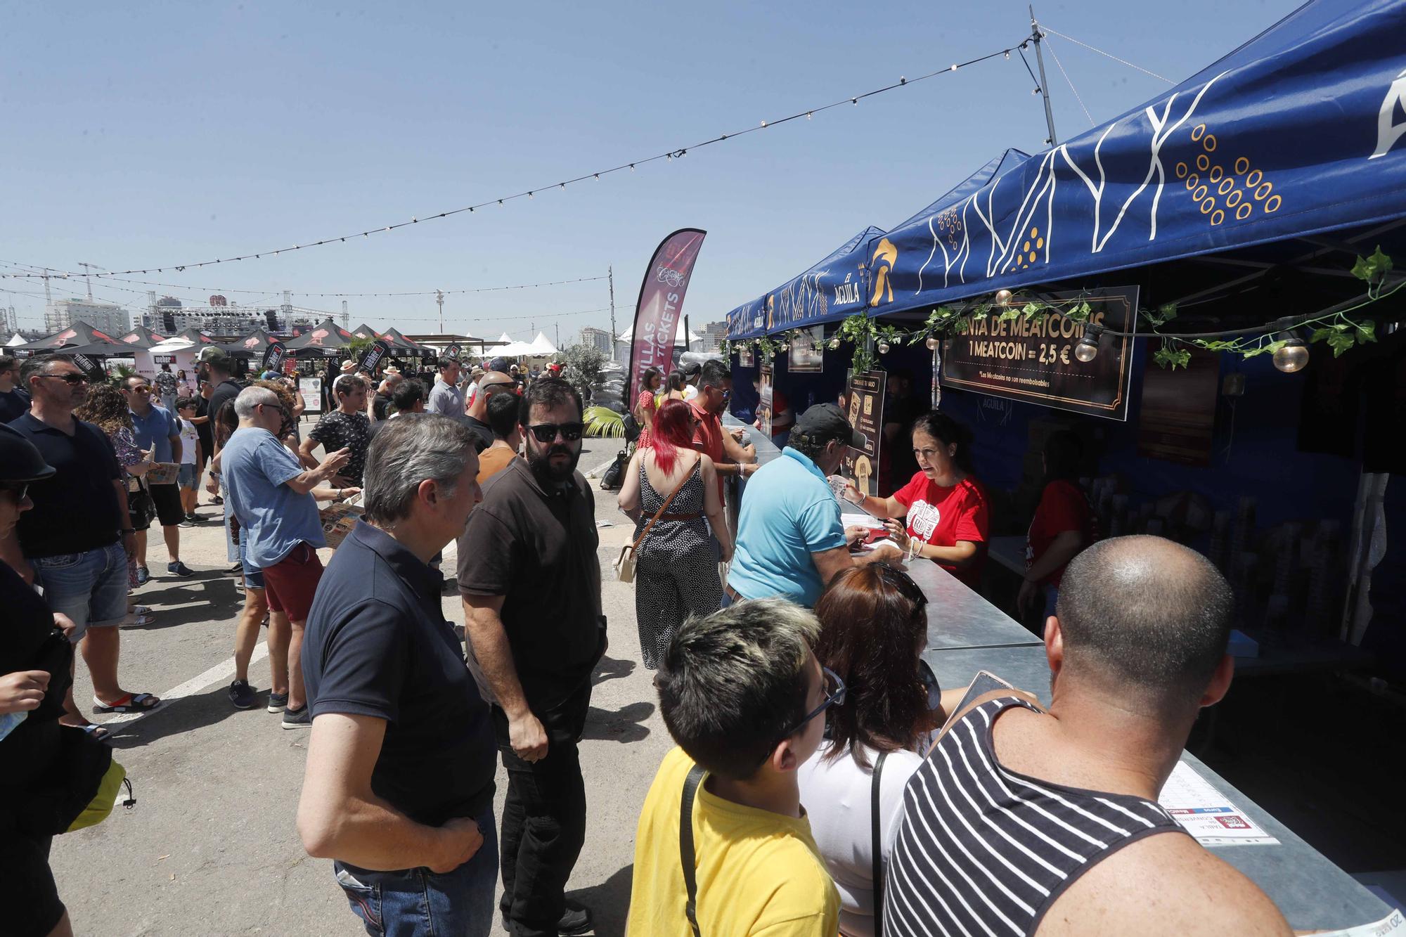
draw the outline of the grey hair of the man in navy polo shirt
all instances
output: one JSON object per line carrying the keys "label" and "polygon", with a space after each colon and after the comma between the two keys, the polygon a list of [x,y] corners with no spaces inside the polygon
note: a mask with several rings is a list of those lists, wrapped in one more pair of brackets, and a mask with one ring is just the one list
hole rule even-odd
{"label": "grey hair of the man in navy polo shirt", "polygon": [[405,414],[381,423],[361,473],[366,519],[388,525],[411,516],[422,481],[434,481],[454,497],[458,477],[477,457],[474,436],[457,419]]}

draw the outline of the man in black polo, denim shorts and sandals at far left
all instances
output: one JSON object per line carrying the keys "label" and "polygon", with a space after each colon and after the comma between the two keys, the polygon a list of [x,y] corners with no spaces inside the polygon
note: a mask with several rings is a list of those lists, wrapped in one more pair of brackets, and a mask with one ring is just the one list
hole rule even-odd
{"label": "man in black polo, denim shorts and sandals at far left", "polygon": [[[73,619],[69,640],[83,642],[94,712],[153,709],[160,699],[117,682],[117,626],[127,618],[127,557],[136,537],[112,443],[93,423],[73,418],[87,400],[87,376],[67,355],[48,355],[27,359],[20,377],[34,402],[10,426],[56,471],[30,485],[34,509],[20,518],[17,537],[0,540],[0,559],[27,581],[38,577],[49,608]],[[65,722],[87,725],[72,688],[65,708]]]}

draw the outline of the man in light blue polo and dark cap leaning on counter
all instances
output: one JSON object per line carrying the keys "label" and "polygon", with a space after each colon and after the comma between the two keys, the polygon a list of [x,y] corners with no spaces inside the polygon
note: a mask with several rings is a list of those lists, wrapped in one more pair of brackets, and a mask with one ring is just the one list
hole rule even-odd
{"label": "man in light blue polo and dark cap leaning on counter", "polygon": [[891,544],[863,557],[849,553],[863,529],[846,532],[841,525],[839,501],[825,476],[839,468],[846,447],[862,445],[834,404],[801,414],[780,457],[747,483],[727,575],[730,599],[778,597],[808,608],[841,570],[903,556]]}

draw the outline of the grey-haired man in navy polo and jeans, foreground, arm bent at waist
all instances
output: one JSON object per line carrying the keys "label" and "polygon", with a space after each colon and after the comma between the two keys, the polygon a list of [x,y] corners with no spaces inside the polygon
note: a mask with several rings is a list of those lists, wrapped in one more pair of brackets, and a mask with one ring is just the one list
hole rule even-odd
{"label": "grey-haired man in navy polo and jeans, foreground, arm bent at waist", "polygon": [[458,422],[388,421],[367,456],[364,521],[308,616],[298,833],[311,855],[336,860],[353,913],[375,933],[492,927],[494,734],[429,566],[478,504],[477,474]]}

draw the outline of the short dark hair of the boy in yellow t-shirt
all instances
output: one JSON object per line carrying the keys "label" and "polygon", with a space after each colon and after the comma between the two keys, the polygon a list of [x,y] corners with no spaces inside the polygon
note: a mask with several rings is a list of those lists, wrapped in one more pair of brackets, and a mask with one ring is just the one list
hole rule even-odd
{"label": "short dark hair of the boy in yellow t-shirt", "polygon": [[806,715],[806,660],[820,636],[808,609],[735,602],[679,626],[655,685],[669,734],[713,774],[749,778]]}

